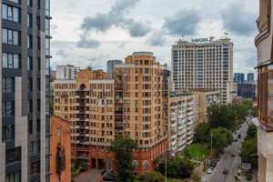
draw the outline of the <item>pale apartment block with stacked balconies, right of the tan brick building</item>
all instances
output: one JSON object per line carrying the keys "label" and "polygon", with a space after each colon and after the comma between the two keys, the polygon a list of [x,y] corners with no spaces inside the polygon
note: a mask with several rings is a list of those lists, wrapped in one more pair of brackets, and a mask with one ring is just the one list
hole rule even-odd
{"label": "pale apartment block with stacked balconies, right of the tan brick building", "polygon": [[198,95],[170,93],[168,116],[168,149],[175,157],[193,141],[198,123]]}

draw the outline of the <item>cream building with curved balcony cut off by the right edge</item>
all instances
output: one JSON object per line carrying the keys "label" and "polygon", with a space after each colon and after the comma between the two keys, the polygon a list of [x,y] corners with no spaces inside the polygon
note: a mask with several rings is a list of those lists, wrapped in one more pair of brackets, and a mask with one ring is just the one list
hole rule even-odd
{"label": "cream building with curved balcony cut off by the right edge", "polygon": [[258,35],[258,181],[273,181],[273,25],[271,0],[259,0]]}

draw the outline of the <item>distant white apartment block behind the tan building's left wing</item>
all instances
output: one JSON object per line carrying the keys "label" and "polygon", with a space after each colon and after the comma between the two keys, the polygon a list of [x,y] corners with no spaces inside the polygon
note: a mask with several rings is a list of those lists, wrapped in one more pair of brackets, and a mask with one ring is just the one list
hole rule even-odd
{"label": "distant white apartment block behind the tan building's left wing", "polygon": [[76,79],[77,72],[80,71],[78,66],[56,66],[56,79]]}

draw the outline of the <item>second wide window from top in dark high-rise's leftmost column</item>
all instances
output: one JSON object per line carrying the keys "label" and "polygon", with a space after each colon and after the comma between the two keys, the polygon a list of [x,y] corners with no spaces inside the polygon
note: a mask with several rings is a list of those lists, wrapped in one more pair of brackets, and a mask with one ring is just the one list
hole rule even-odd
{"label": "second wide window from top in dark high-rise's leftmost column", "polygon": [[19,32],[2,28],[2,43],[8,45],[19,45]]}

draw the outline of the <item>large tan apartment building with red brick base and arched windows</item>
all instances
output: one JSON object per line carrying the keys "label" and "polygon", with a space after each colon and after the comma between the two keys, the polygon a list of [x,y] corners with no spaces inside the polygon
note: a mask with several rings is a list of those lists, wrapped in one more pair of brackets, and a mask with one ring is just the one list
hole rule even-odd
{"label": "large tan apartment building with red brick base and arched windows", "polygon": [[73,161],[116,170],[107,147],[130,136],[138,144],[136,173],[155,167],[153,159],[167,153],[168,76],[153,53],[136,52],[115,66],[115,78],[89,68],[76,80],[56,80],[54,114],[71,122]]}

